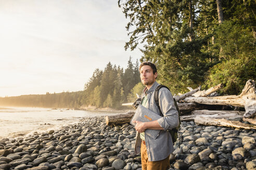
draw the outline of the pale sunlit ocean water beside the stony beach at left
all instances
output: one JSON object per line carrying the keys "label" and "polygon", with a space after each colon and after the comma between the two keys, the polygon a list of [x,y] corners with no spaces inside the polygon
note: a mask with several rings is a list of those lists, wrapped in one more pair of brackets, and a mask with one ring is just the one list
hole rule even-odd
{"label": "pale sunlit ocean water beside the stony beach at left", "polygon": [[35,132],[59,130],[83,117],[108,116],[117,112],[50,109],[38,107],[0,107],[0,139],[26,136]]}

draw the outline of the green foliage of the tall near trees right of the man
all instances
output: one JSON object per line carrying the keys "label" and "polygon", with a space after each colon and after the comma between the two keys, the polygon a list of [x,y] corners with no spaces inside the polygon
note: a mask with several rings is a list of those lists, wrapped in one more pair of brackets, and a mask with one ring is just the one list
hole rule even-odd
{"label": "green foliage of the tall near trees right of the man", "polygon": [[[158,81],[173,93],[199,85],[207,88],[220,81],[226,83],[223,92],[238,93],[245,79],[255,77],[250,63],[255,61],[256,4],[251,0],[220,2],[222,24],[218,22],[216,0],[119,0],[129,19],[126,29],[130,41],[125,49],[143,44],[140,61],[156,63]],[[218,69],[220,74],[230,75],[232,64],[237,65],[231,76],[236,80],[228,84],[229,78],[217,78]],[[242,70],[247,70],[246,75],[240,74]]]}

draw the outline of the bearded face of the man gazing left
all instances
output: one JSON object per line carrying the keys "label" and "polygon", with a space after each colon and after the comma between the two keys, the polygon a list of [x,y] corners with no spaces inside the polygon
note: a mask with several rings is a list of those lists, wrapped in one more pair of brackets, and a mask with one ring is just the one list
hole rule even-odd
{"label": "bearded face of the man gazing left", "polygon": [[157,73],[153,74],[153,69],[149,65],[140,68],[140,80],[146,86],[151,86],[157,78]]}

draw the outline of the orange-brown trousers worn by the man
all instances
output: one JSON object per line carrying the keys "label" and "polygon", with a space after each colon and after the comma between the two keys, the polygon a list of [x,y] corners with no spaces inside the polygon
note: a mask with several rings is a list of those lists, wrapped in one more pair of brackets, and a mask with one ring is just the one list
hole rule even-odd
{"label": "orange-brown trousers worn by the man", "polygon": [[140,154],[142,157],[142,170],[166,170],[170,168],[170,155],[164,160],[148,161],[147,148],[143,143],[140,147]]}

